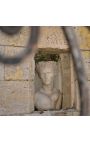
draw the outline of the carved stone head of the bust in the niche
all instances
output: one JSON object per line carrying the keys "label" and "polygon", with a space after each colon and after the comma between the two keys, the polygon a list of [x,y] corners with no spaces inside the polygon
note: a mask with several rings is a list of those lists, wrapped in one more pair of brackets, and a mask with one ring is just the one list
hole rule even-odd
{"label": "carved stone head of the bust in the niche", "polygon": [[38,72],[39,77],[42,79],[43,84],[49,85],[54,81],[56,62],[38,62],[38,64],[36,65],[36,70]]}

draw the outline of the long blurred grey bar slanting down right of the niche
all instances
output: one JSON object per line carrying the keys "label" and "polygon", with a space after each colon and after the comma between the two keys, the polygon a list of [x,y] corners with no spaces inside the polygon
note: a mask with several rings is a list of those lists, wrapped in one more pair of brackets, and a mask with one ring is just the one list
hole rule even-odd
{"label": "long blurred grey bar slanting down right of the niche", "polygon": [[70,46],[71,54],[73,57],[77,79],[80,89],[80,101],[81,101],[81,113],[80,115],[90,115],[90,99],[89,99],[89,88],[86,78],[86,72],[83,64],[83,58],[81,55],[79,43],[77,41],[73,27],[65,26],[62,27]]}

